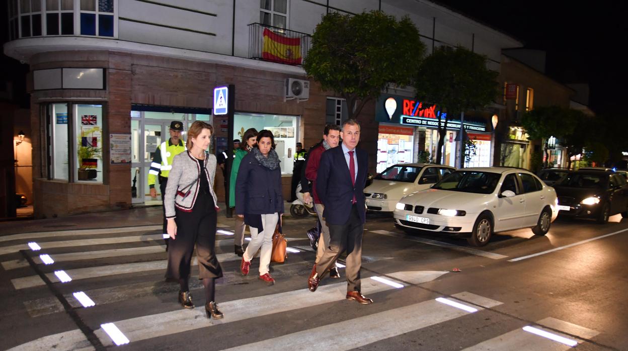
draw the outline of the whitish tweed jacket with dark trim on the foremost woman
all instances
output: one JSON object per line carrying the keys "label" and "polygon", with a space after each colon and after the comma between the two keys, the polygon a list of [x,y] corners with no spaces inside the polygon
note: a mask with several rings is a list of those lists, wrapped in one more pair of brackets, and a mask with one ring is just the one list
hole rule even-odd
{"label": "whitish tweed jacket with dark trim on the foremost woman", "polygon": [[[200,188],[200,176],[206,176],[209,183],[209,191],[212,193],[214,203],[218,209],[218,201],[214,191],[214,177],[216,175],[216,156],[205,152],[205,170],[201,173],[197,160],[190,154],[190,151],[184,151],[173,158],[172,170],[168,174],[168,185],[166,185],[166,195],[163,200],[163,206],[166,209],[166,218],[176,217],[175,207],[185,212],[191,212],[196,202],[198,190]],[[195,180],[198,181],[194,183]],[[179,190],[187,192],[185,188],[189,186],[187,196],[183,197]]]}

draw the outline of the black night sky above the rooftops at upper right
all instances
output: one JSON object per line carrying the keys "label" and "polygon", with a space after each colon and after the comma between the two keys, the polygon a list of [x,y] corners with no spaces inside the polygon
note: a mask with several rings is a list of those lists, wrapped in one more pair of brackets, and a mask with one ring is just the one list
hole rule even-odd
{"label": "black night sky above the rooftops at upper right", "polygon": [[547,52],[546,74],[561,83],[588,83],[589,106],[622,114],[628,5],[623,1],[438,0],[501,30],[526,48]]}

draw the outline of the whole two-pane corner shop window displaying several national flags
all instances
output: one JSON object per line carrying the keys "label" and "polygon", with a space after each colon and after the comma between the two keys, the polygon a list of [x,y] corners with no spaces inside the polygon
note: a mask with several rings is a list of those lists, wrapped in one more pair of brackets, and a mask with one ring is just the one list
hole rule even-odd
{"label": "whole two-pane corner shop window displaying several national flags", "polygon": [[50,104],[47,112],[48,177],[102,183],[102,105]]}

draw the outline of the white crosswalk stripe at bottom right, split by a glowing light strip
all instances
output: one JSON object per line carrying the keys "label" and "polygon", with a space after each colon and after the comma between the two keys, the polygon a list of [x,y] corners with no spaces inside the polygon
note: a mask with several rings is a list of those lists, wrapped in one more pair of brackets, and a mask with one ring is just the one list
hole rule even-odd
{"label": "white crosswalk stripe at bottom right, split by a glowing light strip", "polygon": [[[583,339],[590,339],[598,335],[599,332],[591,330],[585,327],[580,327],[566,321],[557,320],[556,318],[545,318],[539,320],[533,327],[539,328],[546,332],[559,335],[560,337],[567,338],[569,340],[575,340],[577,343],[582,343]],[[546,328],[543,328],[546,327]],[[556,330],[560,330],[563,333],[557,333]],[[571,337],[575,335],[580,338]],[[552,350],[561,351],[569,350],[571,346],[565,345],[548,338],[544,338],[538,335],[533,335],[524,331],[522,328],[512,330],[511,332],[499,335],[489,340],[485,340],[472,347],[467,347],[464,351],[489,351],[489,350]]]}

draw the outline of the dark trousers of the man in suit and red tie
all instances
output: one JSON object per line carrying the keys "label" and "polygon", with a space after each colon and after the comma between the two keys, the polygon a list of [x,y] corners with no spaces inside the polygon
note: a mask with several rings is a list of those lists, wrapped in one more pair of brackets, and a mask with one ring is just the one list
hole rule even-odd
{"label": "dark trousers of the man in suit and red tie", "polygon": [[[342,252],[347,251],[347,267],[345,274],[347,276],[347,291],[360,291],[360,268],[362,268],[362,234],[364,232],[364,224],[357,212],[358,204],[351,207],[349,219],[345,224],[330,224],[329,227],[330,242],[325,248],[323,256],[317,263],[317,273],[319,277],[323,276],[334,264]],[[364,203],[362,203],[364,206]]]}

